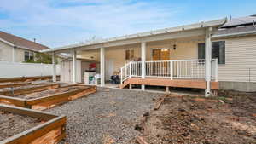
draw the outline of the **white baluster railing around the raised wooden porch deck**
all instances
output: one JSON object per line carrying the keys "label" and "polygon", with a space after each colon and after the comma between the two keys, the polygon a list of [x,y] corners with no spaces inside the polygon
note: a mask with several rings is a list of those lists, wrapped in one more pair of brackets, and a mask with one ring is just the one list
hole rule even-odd
{"label": "white baluster railing around the raised wooden porch deck", "polygon": [[[158,60],[146,61],[146,78],[204,79],[205,60]],[[142,62],[131,61],[120,68],[121,84],[127,78],[142,76]],[[212,59],[212,79],[218,81],[218,59]]]}

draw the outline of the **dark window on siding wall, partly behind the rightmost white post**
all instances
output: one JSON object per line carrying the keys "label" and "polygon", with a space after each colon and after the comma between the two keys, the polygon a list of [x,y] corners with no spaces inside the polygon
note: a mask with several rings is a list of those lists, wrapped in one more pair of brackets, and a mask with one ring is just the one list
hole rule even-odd
{"label": "dark window on siding wall, partly behind the rightmost white post", "polygon": [[[198,59],[205,59],[205,43],[198,43]],[[218,59],[218,64],[225,64],[225,42],[212,42],[212,59]]]}

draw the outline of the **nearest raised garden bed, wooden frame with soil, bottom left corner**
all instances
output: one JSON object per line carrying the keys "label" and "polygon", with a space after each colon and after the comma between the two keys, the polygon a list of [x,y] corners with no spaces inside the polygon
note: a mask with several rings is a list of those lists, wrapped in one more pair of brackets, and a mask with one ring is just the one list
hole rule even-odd
{"label": "nearest raised garden bed, wooden frame with soil, bottom left corner", "polygon": [[66,137],[66,116],[0,104],[0,144],[53,144]]}

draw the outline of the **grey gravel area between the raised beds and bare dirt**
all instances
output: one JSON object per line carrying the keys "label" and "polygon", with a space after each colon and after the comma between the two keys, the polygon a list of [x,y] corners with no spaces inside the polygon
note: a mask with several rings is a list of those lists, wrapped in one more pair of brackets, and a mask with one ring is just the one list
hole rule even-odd
{"label": "grey gravel area between the raised beds and bare dirt", "polygon": [[132,143],[139,117],[164,94],[98,88],[96,94],[70,101],[48,112],[67,116],[67,139],[61,143]]}

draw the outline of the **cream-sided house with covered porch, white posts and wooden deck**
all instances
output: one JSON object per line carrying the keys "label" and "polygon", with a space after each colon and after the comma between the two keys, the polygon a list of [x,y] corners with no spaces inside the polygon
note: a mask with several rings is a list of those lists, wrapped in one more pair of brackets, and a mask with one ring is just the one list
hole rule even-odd
{"label": "cream-sided house with covered porch, white posts and wooden deck", "polygon": [[[120,72],[120,88],[133,84],[256,91],[256,17],[199,22],[44,50],[99,60],[101,86]],[[77,66],[73,65],[73,73]],[[76,75],[73,74],[73,83]],[[212,90],[211,90],[212,89]],[[216,90],[215,90],[216,91]]]}

